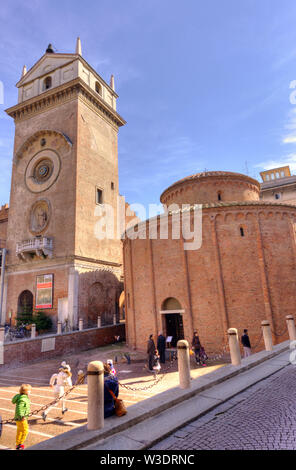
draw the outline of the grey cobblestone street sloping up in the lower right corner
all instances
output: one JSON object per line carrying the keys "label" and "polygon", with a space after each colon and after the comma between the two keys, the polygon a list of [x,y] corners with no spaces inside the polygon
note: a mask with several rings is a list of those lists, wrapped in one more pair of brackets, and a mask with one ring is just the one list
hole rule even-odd
{"label": "grey cobblestone street sloping up in the lower right corner", "polygon": [[152,449],[296,449],[295,365],[236,395]]}

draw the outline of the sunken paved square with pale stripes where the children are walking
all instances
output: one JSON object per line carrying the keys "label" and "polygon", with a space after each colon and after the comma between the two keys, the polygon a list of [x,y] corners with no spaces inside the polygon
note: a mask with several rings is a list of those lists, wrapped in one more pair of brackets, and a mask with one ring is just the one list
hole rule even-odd
{"label": "sunken paved square with pale stripes where the children are walking", "polygon": [[[124,352],[131,355],[131,364],[123,359]],[[121,384],[129,387],[126,389],[120,387],[120,398],[122,398],[127,407],[132,406],[139,401],[144,401],[165,390],[176,387],[179,383],[178,364],[176,361],[170,368],[167,361],[164,369],[169,369],[163,379],[155,385],[154,375],[146,368],[146,354],[140,352],[130,352],[128,347],[122,344],[110,345],[96,348],[81,353],[62,356],[46,361],[36,362],[34,364],[23,365],[20,368],[10,368],[0,371],[0,415],[3,420],[14,416],[15,406],[12,405],[12,397],[18,393],[19,386],[22,383],[32,385],[31,393],[31,411],[40,409],[44,404],[53,400],[53,392],[48,382],[50,376],[56,372],[62,360],[66,360],[72,369],[74,382],[79,369],[86,370],[90,361],[106,361],[108,358],[118,358],[118,364],[115,368]],[[207,367],[198,367],[191,362],[192,377],[196,378],[206,375],[220,367],[225,362],[222,360],[209,363]],[[151,387],[152,385],[152,387]],[[130,390],[136,389],[136,390]],[[144,388],[144,390],[143,390]],[[146,388],[146,389],[145,389]],[[41,413],[36,417],[29,418],[29,436],[26,446],[32,446],[51,437],[62,434],[75,427],[82,426],[87,422],[87,384],[77,387],[67,397],[66,406],[68,411],[65,415],[61,413],[61,406],[58,404],[48,414],[47,421],[41,418]],[[6,425],[3,429],[3,435],[0,438],[0,451],[4,449],[13,449],[15,447],[15,424]]]}

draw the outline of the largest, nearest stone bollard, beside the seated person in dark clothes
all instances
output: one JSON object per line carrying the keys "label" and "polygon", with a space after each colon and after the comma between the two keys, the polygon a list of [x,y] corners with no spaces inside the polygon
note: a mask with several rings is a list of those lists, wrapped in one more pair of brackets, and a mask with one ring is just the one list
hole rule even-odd
{"label": "largest, nearest stone bollard, beside the seated person in dark clothes", "polygon": [[87,366],[87,429],[94,431],[104,427],[104,366],[101,361]]}

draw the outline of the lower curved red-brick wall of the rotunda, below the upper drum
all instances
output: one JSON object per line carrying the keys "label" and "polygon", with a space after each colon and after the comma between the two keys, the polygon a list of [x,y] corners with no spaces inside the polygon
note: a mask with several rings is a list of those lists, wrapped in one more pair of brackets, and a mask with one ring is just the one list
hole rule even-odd
{"label": "lower curved red-brick wall of the rotunda, below the upper drum", "polygon": [[[197,330],[209,353],[219,352],[229,327],[249,330],[253,346],[262,320],[285,330],[296,305],[296,208],[240,202],[203,207],[202,246],[183,240],[126,239],[124,270],[127,341],[145,350],[149,334],[164,329],[160,313],[173,297],[184,310],[185,338]],[[169,230],[170,233],[170,230]],[[243,235],[242,235],[243,234]],[[274,336],[274,342],[288,339]],[[263,341],[258,349],[263,349]]]}

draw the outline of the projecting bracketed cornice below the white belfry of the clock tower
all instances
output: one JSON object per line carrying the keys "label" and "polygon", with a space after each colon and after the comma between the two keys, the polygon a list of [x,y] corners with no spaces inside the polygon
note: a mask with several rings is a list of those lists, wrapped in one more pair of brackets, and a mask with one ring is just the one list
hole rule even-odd
{"label": "projecting bracketed cornice below the white belfry of the clock tower", "polygon": [[11,108],[6,113],[15,121],[29,119],[33,115],[40,114],[47,109],[54,108],[68,101],[82,98],[92,109],[103,116],[108,122],[117,128],[123,126],[126,121],[103,98],[95,93],[81,78],[76,78],[59,87],[48,90],[41,95],[23,101]]}

